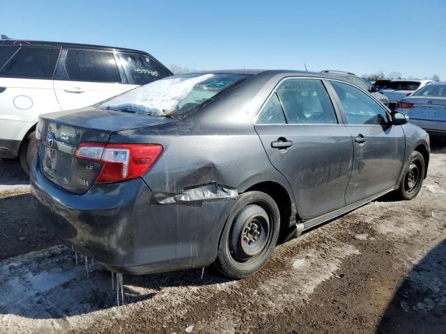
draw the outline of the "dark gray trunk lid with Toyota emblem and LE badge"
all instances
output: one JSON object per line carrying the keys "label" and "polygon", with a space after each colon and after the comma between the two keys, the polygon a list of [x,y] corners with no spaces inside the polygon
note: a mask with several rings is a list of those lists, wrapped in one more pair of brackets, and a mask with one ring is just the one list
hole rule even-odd
{"label": "dark gray trunk lid with Toyota emblem and LE badge", "polygon": [[67,191],[85,193],[98,177],[102,164],[75,158],[79,143],[107,143],[113,132],[174,121],[172,118],[141,116],[95,107],[41,115],[37,144],[40,172]]}

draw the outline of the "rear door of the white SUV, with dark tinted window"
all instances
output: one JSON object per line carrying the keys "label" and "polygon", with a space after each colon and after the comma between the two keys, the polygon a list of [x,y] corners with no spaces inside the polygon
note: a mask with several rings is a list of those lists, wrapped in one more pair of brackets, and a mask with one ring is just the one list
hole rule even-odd
{"label": "rear door of the white SUV, with dark tinted window", "polygon": [[64,48],[54,76],[62,110],[91,106],[132,87],[123,85],[113,51]]}

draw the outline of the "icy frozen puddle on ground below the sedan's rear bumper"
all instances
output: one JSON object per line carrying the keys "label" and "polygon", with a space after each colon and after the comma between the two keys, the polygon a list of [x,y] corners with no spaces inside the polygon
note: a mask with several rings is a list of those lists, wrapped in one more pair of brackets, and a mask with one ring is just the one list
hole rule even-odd
{"label": "icy frozen puddle on ground below the sedan's rear bumper", "polygon": [[[125,317],[138,303],[147,312],[181,305],[203,289],[212,298],[236,282],[202,270],[147,276],[111,275],[65,246],[0,261],[0,333],[59,333],[87,328],[100,318]],[[86,273],[88,268],[88,275]],[[222,284],[220,284],[222,283]],[[197,296],[197,300],[203,296]],[[206,297],[204,297],[206,298]],[[119,307],[117,305],[119,304]]]}

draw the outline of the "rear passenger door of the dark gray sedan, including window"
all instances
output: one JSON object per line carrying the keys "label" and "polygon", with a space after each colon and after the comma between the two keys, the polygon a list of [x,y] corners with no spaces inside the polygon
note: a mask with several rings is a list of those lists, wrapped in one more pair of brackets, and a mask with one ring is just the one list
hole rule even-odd
{"label": "rear passenger door of the dark gray sedan, including window", "polygon": [[291,184],[300,218],[345,205],[353,141],[320,79],[284,79],[263,106],[256,132]]}

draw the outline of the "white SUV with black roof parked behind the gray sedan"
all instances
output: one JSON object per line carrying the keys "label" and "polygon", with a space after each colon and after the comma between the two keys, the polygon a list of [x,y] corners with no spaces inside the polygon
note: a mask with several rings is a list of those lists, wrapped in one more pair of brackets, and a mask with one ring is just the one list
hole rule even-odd
{"label": "white SUV with black roof parked behind the gray sedan", "polygon": [[0,158],[29,173],[42,113],[90,106],[172,73],[143,51],[0,40]]}

